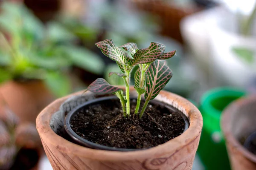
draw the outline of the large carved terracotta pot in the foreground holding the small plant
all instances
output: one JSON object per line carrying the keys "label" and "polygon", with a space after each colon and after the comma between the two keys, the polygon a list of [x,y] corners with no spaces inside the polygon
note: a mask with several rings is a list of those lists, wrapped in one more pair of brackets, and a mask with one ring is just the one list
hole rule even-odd
{"label": "large carved terracotta pot in the foreground holding the small plant", "polygon": [[[124,89],[124,88],[123,88]],[[130,96],[136,96],[133,87]],[[36,124],[44,150],[54,170],[191,170],[201,135],[201,113],[188,100],[161,91],[156,100],[183,112],[190,122],[180,136],[146,150],[95,150],[69,142],[61,137],[64,116],[84,101],[98,97],[87,91],[78,92],[52,102],[37,117]],[[71,100],[77,98],[76,102]]]}

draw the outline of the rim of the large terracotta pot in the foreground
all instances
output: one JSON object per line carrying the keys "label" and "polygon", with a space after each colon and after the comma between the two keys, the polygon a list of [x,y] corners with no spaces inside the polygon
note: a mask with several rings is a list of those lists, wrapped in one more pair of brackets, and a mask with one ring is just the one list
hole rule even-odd
{"label": "rim of the large terracotta pot in the foreground", "polygon": [[[119,86],[120,88],[125,89],[123,86]],[[130,87],[130,91],[135,91],[133,87]],[[187,144],[193,142],[197,138],[200,138],[202,126],[203,126],[203,118],[198,110],[191,102],[187,99],[184,99],[177,94],[172,94],[167,91],[161,91],[156,99],[166,101],[169,99],[169,103],[172,101],[172,105],[178,110],[186,111],[187,117],[190,122],[189,128],[182,133],[180,136],[164,143],[160,144],[156,147],[152,147],[146,150],[136,150],[136,151],[108,151],[108,150],[95,150],[87,147],[80,146],[78,144],[74,144],[72,142],[67,141],[66,139],[58,136],[50,127],[49,122],[51,116],[55,111],[58,111],[61,103],[63,103],[66,99],[73,95],[81,95],[84,91],[80,91],[69,96],[65,96],[63,98],[57,99],[44,108],[43,111],[38,115],[36,119],[36,125],[39,135],[41,139],[48,139],[49,143],[52,144],[52,147],[56,147],[59,151],[64,153],[76,153],[77,156],[89,158],[89,159],[97,159],[102,161],[111,161],[115,160],[136,160],[136,159],[147,159],[152,154],[154,155],[164,155],[170,153],[170,150],[173,151],[174,147],[176,150],[174,153],[178,152],[181,148],[185,147]],[[86,93],[90,93],[89,91]],[[168,98],[168,99],[167,99]],[[47,143],[48,143],[47,142]],[[44,147],[47,147],[42,140]],[[50,152],[50,148],[46,148]],[[84,154],[86,153],[86,154]],[[174,154],[173,153],[173,154]]]}

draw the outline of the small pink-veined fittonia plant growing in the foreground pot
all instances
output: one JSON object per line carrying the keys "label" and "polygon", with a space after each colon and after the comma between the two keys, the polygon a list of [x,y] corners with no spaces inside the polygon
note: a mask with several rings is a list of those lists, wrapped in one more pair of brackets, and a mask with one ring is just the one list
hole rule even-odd
{"label": "small pink-veined fittonia plant growing in the foreground pot", "polygon": [[135,43],[116,47],[111,39],[97,42],[96,45],[105,56],[116,61],[122,71],[122,73],[110,72],[109,77],[117,75],[124,79],[125,94],[121,88],[110,85],[102,78],[90,84],[87,91],[96,94],[115,94],[120,99],[124,116],[130,116],[130,77],[132,69],[138,65],[139,68],[134,74],[134,88],[138,94],[134,114],[139,114],[141,96],[144,94],[145,103],[140,111],[141,118],[148,102],[154,99],[172,78],[172,71],[163,60],[174,56],[176,51],[164,52],[165,45],[158,42],[151,42],[148,48],[142,49],[138,49]]}

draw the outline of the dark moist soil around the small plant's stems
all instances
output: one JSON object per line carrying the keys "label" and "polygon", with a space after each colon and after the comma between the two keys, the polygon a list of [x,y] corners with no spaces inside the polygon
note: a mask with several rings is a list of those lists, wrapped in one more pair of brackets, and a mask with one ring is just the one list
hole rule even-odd
{"label": "dark moist soil around the small plant's stems", "polygon": [[139,119],[133,114],[135,107],[136,100],[131,100],[131,116],[125,118],[117,100],[88,105],[71,120],[71,128],[88,141],[129,149],[154,147],[183,133],[180,113],[150,103]]}

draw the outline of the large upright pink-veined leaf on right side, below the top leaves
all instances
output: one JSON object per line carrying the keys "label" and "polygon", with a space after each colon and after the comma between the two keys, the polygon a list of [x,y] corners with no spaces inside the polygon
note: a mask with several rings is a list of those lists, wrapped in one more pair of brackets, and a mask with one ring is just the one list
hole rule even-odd
{"label": "large upright pink-veined leaf on right side, below the top leaves", "polygon": [[148,67],[145,100],[154,99],[172,78],[172,70],[165,61],[156,60]]}

